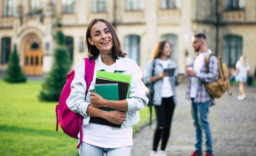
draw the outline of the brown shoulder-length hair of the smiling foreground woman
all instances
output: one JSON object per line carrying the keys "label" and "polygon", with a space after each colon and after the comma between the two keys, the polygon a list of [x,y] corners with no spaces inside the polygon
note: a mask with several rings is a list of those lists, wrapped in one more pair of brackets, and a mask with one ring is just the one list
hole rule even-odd
{"label": "brown shoulder-length hair of the smiling foreground woman", "polygon": [[91,36],[92,26],[96,22],[99,22],[99,21],[106,23],[106,25],[108,26],[108,29],[110,30],[110,33],[112,35],[113,47],[112,47],[112,53],[109,55],[112,55],[112,58],[115,58],[115,59],[118,59],[118,56],[124,58],[126,56],[126,53],[124,53],[121,49],[121,42],[119,41],[119,39],[117,37],[115,28],[113,27],[113,25],[110,22],[108,22],[107,20],[102,19],[102,18],[100,18],[100,19],[94,18],[87,27],[86,46],[88,49],[89,58],[91,60],[95,60],[99,56],[99,49],[97,49],[97,47],[95,47],[95,45],[91,45],[90,42],[88,41],[88,38],[92,38],[92,36]]}

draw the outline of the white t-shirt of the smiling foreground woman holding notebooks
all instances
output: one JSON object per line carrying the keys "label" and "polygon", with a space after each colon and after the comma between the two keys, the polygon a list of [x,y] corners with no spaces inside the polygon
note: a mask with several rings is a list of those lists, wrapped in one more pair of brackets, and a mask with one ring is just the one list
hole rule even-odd
{"label": "white t-shirt of the smiling foreground woman holding notebooks", "polygon": [[[111,66],[103,64],[103,67],[108,72],[114,72],[115,65],[115,63]],[[131,146],[133,145],[132,126],[112,130],[111,126],[89,123],[83,127],[83,142],[103,148]]]}

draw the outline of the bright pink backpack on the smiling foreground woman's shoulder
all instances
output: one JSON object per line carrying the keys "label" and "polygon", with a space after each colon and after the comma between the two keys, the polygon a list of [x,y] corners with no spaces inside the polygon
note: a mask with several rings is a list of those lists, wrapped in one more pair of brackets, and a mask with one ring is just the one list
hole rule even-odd
{"label": "bright pink backpack on the smiling foreground woman's shoulder", "polygon": [[[91,60],[89,58],[85,59],[85,82],[87,85],[85,95],[88,93],[88,88],[92,82],[93,72],[94,72],[94,65],[95,61]],[[61,128],[63,129],[64,133],[71,136],[72,138],[77,138],[77,134],[80,131],[80,143],[76,146],[76,148],[79,148],[82,139],[83,139],[83,133],[82,133],[82,120],[83,116],[79,113],[74,113],[71,111],[66,104],[66,100],[68,96],[70,95],[71,91],[71,82],[74,79],[74,73],[75,70],[73,69],[67,74],[67,81],[62,89],[60,99],[58,101],[58,105],[56,105],[56,131],[58,131],[58,123],[60,124]]]}

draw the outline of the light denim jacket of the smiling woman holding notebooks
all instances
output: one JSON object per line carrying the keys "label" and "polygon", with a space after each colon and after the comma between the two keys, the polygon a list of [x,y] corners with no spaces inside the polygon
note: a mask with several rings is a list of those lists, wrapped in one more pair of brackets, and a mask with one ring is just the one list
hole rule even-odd
{"label": "light denim jacket of the smiling woman holding notebooks", "polygon": [[[82,125],[88,125],[90,116],[86,114],[88,105],[90,104],[90,93],[94,92],[94,85],[96,80],[97,70],[104,70],[100,63],[101,56],[95,60],[94,75],[92,82],[88,89],[88,94],[85,96],[86,82],[85,82],[85,61],[82,60],[75,67],[74,80],[71,83],[70,96],[67,98],[67,106],[70,110],[80,113],[83,118]],[[147,87],[142,82],[143,73],[137,63],[130,58],[116,59],[115,72],[120,74],[131,75],[129,98],[127,98],[128,111],[126,111],[126,121],[121,125],[121,128],[135,125],[139,121],[139,110],[143,109],[148,104],[148,98],[145,93]],[[112,129],[118,129],[112,127]]]}

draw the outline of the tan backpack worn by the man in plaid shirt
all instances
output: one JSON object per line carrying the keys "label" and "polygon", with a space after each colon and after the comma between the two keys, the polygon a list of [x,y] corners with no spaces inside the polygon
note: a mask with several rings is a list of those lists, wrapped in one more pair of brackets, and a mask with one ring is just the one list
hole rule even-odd
{"label": "tan backpack worn by the man in plaid shirt", "polygon": [[[209,73],[209,58],[211,55],[216,56],[214,53],[209,53],[205,58],[206,73]],[[233,95],[229,83],[229,71],[227,65],[222,63],[221,56],[216,56],[219,60],[218,69],[219,69],[219,78],[213,82],[205,82],[204,87],[207,89],[208,93],[214,98],[220,98],[226,91],[231,96],[233,100]]]}

